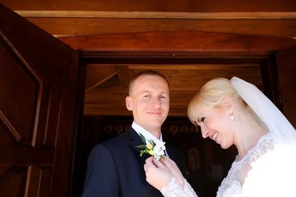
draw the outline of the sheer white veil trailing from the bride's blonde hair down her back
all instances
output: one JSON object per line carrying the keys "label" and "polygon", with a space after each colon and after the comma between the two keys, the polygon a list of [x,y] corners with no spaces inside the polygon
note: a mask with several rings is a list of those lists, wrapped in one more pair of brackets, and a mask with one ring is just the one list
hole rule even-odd
{"label": "sheer white veil trailing from the bride's blonde hair down her back", "polygon": [[[280,110],[253,84],[233,77],[232,85],[267,126],[274,151],[253,165],[243,185],[244,197],[295,197],[296,130]],[[255,192],[256,191],[256,192]]]}

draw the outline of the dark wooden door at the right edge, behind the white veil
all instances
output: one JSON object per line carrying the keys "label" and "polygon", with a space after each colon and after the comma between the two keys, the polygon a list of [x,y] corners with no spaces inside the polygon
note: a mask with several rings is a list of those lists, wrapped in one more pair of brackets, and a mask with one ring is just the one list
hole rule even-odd
{"label": "dark wooden door at the right edge, behind the white veil", "polygon": [[296,46],[276,52],[283,113],[296,128]]}

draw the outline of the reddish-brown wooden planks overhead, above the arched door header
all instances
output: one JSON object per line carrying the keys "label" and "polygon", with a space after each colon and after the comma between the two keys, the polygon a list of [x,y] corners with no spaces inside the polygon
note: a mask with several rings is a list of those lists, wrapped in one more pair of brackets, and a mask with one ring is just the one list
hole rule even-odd
{"label": "reddish-brown wooden planks overhead, above the arched door header", "polygon": [[55,37],[203,31],[296,38],[295,0],[1,0]]}

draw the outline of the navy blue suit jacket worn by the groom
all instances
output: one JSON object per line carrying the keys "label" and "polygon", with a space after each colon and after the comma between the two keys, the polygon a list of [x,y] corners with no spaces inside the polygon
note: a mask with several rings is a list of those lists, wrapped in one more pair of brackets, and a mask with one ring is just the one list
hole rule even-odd
{"label": "navy blue suit jacket worn by the groom", "polygon": [[[140,157],[144,144],[138,133],[130,128],[91,151],[82,197],[163,197],[146,181],[144,170],[148,154]],[[184,177],[186,177],[185,158],[181,152],[167,144],[166,150]]]}

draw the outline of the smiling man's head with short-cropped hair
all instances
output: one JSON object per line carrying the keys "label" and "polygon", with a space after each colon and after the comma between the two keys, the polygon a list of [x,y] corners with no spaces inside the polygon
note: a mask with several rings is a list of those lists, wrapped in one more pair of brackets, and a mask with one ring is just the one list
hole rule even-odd
{"label": "smiling man's head with short-cropped hair", "polygon": [[126,107],[133,111],[134,121],[146,130],[160,129],[169,113],[170,95],[165,79],[140,76],[126,98]]}

